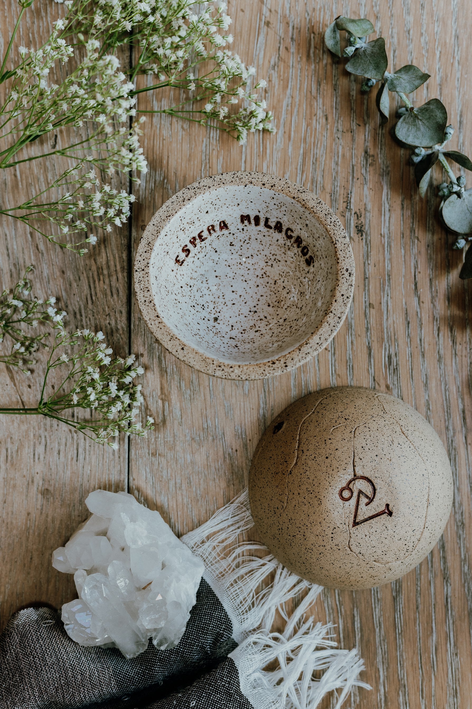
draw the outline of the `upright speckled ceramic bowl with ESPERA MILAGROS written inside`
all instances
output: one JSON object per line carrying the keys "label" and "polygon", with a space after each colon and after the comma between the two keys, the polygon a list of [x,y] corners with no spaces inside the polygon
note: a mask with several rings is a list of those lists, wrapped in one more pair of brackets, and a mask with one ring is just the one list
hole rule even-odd
{"label": "upright speckled ceramic bowl with ESPERA MILAGROS written inside", "polygon": [[339,330],[354,259],[334,213],[262,172],[190,184],[150,220],[134,265],[143,318],[172,354],[224,379],[297,367]]}

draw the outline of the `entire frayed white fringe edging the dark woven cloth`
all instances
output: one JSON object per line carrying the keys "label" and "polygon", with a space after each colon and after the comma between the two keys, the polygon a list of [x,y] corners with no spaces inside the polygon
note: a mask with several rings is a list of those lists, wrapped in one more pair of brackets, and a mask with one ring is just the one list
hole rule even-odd
{"label": "entire frayed white fringe edging the dark woven cloth", "polygon": [[[264,545],[236,542],[253,524],[246,489],[207,523],[182,537],[203,559],[204,579],[233,624],[239,645],[229,657],[238,668],[241,691],[256,709],[314,709],[326,693],[334,691],[339,709],[354,686],[371,688],[358,679],[363,660],[356,650],[336,647],[331,625],[305,620],[304,613],[322,586],[295,576],[271,554],[256,556],[256,552],[268,551]],[[285,603],[303,591],[306,595],[289,617]],[[286,620],[282,634],[269,632],[276,610]],[[260,630],[253,632],[256,628]],[[279,668],[265,670],[274,660]],[[317,671],[324,672],[314,679]]]}

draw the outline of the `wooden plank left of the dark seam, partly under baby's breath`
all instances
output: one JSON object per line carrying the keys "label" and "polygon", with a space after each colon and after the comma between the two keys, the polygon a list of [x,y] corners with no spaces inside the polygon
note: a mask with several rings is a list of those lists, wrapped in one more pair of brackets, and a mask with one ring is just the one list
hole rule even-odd
{"label": "wooden plank left of the dark seam, partly under baby's breath", "polygon": [[[4,45],[18,16],[18,3],[5,0]],[[50,30],[57,6],[53,2],[28,9],[18,44],[39,47]],[[4,47],[1,48],[1,52]],[[3,55],[2,55],[3,56]],[[59,140],[67,140],[67,136]],[[33,154],[51,149],[54,136],[35,141]],[[60,145],[60,144],[59,144]],[[1,170],[1,203],[21,203],[62,173],[64,160],[38,160],[21,169]],[[20,201],[18,201],[20,200]],[[57,296],[69,314],[70,328],[103,330],[112,347],[128,353],[128,228],[100,239],[80,259],[49,244],[13,220],[1,218],[0,291],[13,286],[28,264],[35,264],[34,293]],[[42,384],[0,364],[1,406],[34,406]],[[0,579],[1,625],[14,610],[31,603],[60,607],[74,598],[72,576],[51,566],[53,549],[63,545],[87,516],[84,499],[97,487],[125,489],[127,441],[119,452],[89,442],[65,425],[43,417],[0,416]]]}

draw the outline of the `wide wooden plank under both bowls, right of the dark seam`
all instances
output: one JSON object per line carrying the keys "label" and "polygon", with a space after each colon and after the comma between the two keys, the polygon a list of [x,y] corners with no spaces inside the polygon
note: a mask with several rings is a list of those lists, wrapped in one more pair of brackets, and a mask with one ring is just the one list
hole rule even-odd
{"label": "wide wooden plank under both bowls, right of the dark seam", "polygon": [[177,533],[186,532],[246,484],[258,438],[291,401],[342,384],[401,396],[446,445],[454,517],[415,571],[368,591],[326,590],[315,613],[336,623],[343,647],[357,645],[366,660],[373,691],[354,693],[352,707],[466,707],[472,691],[465,669],[472,661],[471,286],[459,281],[463,255],[450,250],[451,236],[437,221],[434,190],[419,199],[407,152],[380,128],[374,96],[361,95],[358,80],[334,65],[322,33],[339,13],[371,18],[396,68],[413,62],[429,69],[432,79],[415,100],[439,96],[459,134],[451,147],[467,152],[469,48],[461,28],[471,7],[231,0],[229,13],[234,50],[268,79],[278,133],[250,136],[241,149],[216,131],[149,118],[150,172],[135,212],[134,249],[155,210],[195,179],[230,169],[274,172],[312,189],[346,224],[357,269],[353,305],[331,345],[300,369],[234,382],[178,362],[153,340],[133,300],[133,348],[146,359],[145,396],[157,425],[147,441],[131,445],[130,489]]}

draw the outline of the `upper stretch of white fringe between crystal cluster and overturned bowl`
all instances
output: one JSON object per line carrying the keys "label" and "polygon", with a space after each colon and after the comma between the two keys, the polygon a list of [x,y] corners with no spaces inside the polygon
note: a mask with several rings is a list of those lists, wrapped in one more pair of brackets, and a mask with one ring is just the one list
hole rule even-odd
{"label": "upper stretch of white fringe between crystal cluster and overturned bowl", "polygon": [[264,545],[235,542],[253,525],[245,489],[207,523],[182,537],[182,542],[203,560],[203,577],[229,615],[236,642],[260,625],[270,628],[279,606],[302,591],[317,588],[317,595],[321,590],[321,586],[314,587],[285,569],[272,554],[256,556],[256,552],[268,552]]}

